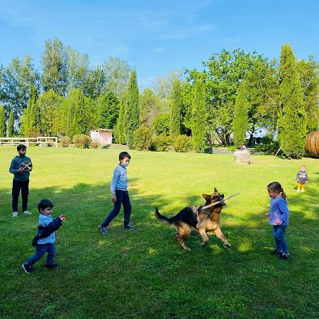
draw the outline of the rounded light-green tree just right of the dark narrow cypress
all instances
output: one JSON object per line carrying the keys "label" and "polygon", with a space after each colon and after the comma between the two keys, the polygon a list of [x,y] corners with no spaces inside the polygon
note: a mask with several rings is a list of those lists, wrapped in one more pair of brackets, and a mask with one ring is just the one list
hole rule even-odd
{"label": "rounded light-green tree just right of the dark narrow cypress", "polygon": [[140,94],[140,125],[150,127],[160,113],[162,108],[159,96],[152,89],[146,88]]}

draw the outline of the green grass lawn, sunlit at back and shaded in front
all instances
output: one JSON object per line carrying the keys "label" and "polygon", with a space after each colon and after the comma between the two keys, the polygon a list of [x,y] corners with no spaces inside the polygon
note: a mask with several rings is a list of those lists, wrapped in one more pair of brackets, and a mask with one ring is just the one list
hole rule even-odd
{"label": "green grass lawn, sunlit at back and shaded in front", "polygon": [[[118,152],[29,147],[33,214],[13,219],[9,165],[16,149],[0,147],[1,318],[318,318],[318,159],[256,156],[254,164],[237,166],[231,155],[131,151],[129,191],[138,230],[122,229],[121,212],[103,236],[97,226],[113,207],[109,184]],[[297,194],[303,163],[310,183]],[[266,186],[275,180],[291,211],[286,261],[269,255]],[[225,196],[240,193],[223,208],[222,230],[232,247],[211,236],[201,248],[194,236],[186,252],[153,209],[172,216],[204,203],[201,194],[213,187]],[[33,254],[36,205],[44,197],[55,203],[53,216],[67,216],[57,231],[61,267],[46,272],[42,259],[26,274],[21,264]]]}

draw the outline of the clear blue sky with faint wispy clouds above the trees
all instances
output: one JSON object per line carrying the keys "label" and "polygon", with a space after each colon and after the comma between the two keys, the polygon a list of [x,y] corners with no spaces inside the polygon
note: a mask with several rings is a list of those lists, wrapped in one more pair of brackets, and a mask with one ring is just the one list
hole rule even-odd
{"label": "clear blue sky with faint wispy clouds above the trees", "polygon": [[318,60],[318,26],[316,0],[1,0],[0,65],[28,53],[40,67],[45,40],[57,37],[91,65],[127,61],[144,89],[224,48],[272,59],[290,43],[296,57]]}

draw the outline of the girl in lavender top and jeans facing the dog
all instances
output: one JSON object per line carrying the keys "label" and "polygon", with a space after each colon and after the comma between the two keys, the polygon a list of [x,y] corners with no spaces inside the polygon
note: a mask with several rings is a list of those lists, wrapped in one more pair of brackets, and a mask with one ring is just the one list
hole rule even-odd
{"label": "girl in lavender top and jeans facing the dog", "polygon": [[279,255],[280,259],[288,259],[289,251],[285,239],[286,228],[289,224],[289,209],[286,202],[286,194],[278,181],[273,181],[267,186],[270,198],[270,211],[264,216],[269,217],[269,224],[272,225],[272,235],[276,242],[276,249],[273,255]]}

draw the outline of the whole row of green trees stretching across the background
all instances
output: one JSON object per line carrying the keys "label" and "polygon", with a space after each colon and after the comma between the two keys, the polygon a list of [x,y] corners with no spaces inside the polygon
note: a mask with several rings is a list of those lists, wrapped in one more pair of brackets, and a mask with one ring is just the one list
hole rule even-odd
{"label": "whole row of green trees stretching across the background", "polygon": [[280,60],[222,50],[203,69],[157,77],[140,93],[127,62],[109,57],[92,67],[88,55],[54,38],[45,41],[40,70],[28,55],[0,67],[0,135],[72,138],[110,128],[131,148],[137,137],[186,135],[204,152],[242,145],[247,133],[251,142],[264,129],[285,157],[300,158],[306,133],[318,129],[318,70],[314,57],[296,60],[290,45]]}

